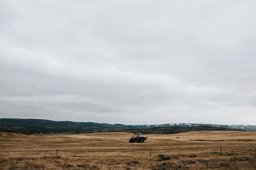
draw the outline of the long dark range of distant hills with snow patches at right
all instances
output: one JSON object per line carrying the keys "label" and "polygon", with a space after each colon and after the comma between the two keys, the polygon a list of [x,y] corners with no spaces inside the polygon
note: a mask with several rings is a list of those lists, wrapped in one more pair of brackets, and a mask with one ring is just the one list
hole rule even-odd
{"label": "long dark range of distant hills with snow patches at right", "polygon": [[[216,124],[193,124],[193,123],[174,123],[174,124],[157,124],[157,125],[123,125],[123,124],[107,124],[107,123],[94,123],[94,122],[71,122],[71,121],[51,121],[43,119],[0,119],[0,132],[14,132],[23,134],[34,134],[34,133],[93,133],[93,132],[108,132],[117,131],[124,129],[148,129],[157,127],[197,127],[197,126],[210,126],[216,127],[211,130],[217,130],[220,128],[234,129],[234,130],[245,130],[250,132],[256,132],[256,126],[253,125],[216,125]],[[163,129],[163,128],[157,128]],[[171,128],[173,129],[173,128]],[[185,128],[189,129],[189,128]],[[195,129],[195,128],[194,128]],[[200,128],[197,128],[200,129]],[[209,128],[208,128],[209,129]],[[149,129],[148,129],[149,130]],[[160,133],[159,130],[155,130]],[[164,129],[163,129],[164,130]],[[190,131],[193,129],[190,128]],[[165,129],[166,131],[166,129]],[[182,130],[181,130],[182,131]],[[127,131],[128,132],[128,131]],[[174,131],[166,131],[169,134]],[[162,133],[162,132],[161,132]]]}

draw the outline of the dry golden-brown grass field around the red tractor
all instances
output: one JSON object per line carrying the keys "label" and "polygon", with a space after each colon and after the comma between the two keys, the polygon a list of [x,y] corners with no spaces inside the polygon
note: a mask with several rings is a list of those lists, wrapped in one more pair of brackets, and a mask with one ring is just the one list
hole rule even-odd
{"label": "dry golden-brown grass field around the red tractor", "polygon": [[0,169],[256,169],[256,132],[149,134],[144,143],[131,136],[0,132]]}

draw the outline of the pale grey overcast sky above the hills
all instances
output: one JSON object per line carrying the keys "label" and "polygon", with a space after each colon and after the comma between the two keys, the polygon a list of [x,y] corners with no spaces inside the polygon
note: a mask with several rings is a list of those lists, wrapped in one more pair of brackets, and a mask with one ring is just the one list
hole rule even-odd
{"label": "pale grey overcast sky above the hills", "polygon": [[0,117],[256,125],[256,1],[0,0]]}

